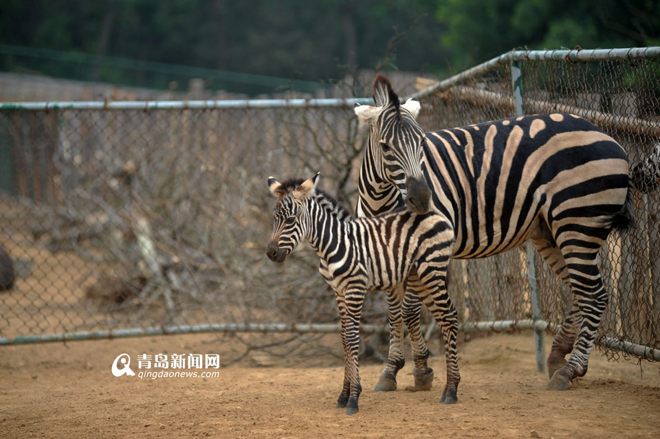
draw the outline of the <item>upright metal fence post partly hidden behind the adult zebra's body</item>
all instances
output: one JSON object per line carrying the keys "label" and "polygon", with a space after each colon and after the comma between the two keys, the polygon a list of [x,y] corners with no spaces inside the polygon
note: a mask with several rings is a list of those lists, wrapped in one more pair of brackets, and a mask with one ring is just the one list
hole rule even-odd
{"label": "upright metal fence post partly hidden behind the adult zebra's body", "polygon": [[[514,115],[522,116],[525,111],[522,107],[522,70],[520,63],[511,60],[511,86],[514,92]],[[536,369],[545,371],[545,344],[544,331],[536,326],[541,320],[541,302],[538,294],[538,282],[536,282],[536,264],[534,263],[534,247],[531,241],[525,244],[527,253],[527,280],[529,281],[529,297],[531,298],[531,313],[534,325],[534,345],[536,347]]]}

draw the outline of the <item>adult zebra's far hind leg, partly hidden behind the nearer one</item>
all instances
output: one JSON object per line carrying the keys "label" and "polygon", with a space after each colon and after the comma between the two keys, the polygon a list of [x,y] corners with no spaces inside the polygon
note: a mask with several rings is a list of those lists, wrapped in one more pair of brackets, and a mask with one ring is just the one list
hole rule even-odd
{"label": "adult zebra's far hind leg, partly hidden behind the nearer one", "polygon": [[[559,278],[564,281],[566,285],[571,288],[569,279],[569,271],[566,269],[566,261],[559,247],[550,242],[549,240],[533,240],[538,253],[543,257],[545,262],[550,266]],[[566,354],[573,351],[573,344],[577,335],[577,327],[580,325],[580,308],[577,303],[573,301],[573,306],[569,315],[564,319],[564,323],[559,330],[559,333],[552,341],[552,348],[547,359],[549,378],[552,378],[556,370],[564,367],[566,364]]]}

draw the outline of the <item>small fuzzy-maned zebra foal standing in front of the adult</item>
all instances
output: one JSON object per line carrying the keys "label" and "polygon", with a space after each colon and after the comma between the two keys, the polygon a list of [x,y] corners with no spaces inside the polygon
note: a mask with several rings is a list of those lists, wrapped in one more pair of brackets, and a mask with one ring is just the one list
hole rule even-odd
{"label": "small fuzzy-maned zebra foal standing in front of the adult", "polygon": [[[316,189],[311,179],[279,183],[268,179],[277,196],[273,234],[266,254],[284,262],[300,240],[307,240],[321,258],[319,271],[336,293],[344,346],[344,386],[337,401],[346,413],[358,412],[362,391],[358,372],[360,314],[369,289],[404,294],[406,283],[431,311],[445,340],[447,383],[441,403],[456,403],[461,381],[456,362],[456,308],[447,294],[445,280],[454,230],[441,214],[415,214],[407,210],[374,218],[352,218],[346,208]],[[410,274],[412,268],[417,275]]]}

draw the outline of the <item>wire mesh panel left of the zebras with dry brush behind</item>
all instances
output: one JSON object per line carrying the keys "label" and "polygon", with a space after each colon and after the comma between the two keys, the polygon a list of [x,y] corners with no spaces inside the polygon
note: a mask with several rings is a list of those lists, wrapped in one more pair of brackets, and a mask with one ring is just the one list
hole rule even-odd
{"label": "wire mesh panel left of the zebras with dry brush behind", "polygon": [[336,323],[316,255],[265,258],[266,182],[320,170],[354,198],[352,106],[3,111],[0,139],[2,245],[19,274],[0,293],[3,337]]}

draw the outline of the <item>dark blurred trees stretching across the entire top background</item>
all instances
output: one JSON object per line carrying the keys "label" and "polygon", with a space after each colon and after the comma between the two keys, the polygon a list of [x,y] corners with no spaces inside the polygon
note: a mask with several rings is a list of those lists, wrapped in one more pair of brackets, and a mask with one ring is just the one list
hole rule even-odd
{"label": "dark blurred trees stretching across the entire top background", "polygon": [[[518,47],[660,44],[660,1],[3,0],[0,43],[314,81],[365,67],[444,76]],[[99,73],[44,73],[67,68]]]}

